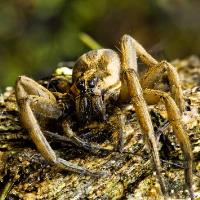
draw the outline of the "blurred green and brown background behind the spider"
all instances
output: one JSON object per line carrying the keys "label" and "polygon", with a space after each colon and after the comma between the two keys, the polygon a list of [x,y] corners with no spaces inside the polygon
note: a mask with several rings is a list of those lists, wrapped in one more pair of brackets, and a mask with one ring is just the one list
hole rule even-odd
{"label": "blurred green and brown background behind the spider", "polygon": [[199,54],[200,1],[0,1],[0,90],[18,75],[40,78],[76,60],[88,51],[81,32],[109,48],[131,34],[160,59]]}

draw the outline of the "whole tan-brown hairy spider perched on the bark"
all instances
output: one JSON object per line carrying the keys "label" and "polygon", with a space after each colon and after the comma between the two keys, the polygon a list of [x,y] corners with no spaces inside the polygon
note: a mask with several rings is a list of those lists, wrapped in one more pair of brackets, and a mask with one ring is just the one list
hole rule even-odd
{"label": "whole tan-brown hairy spider perched on the bark", "polygon": [[[148,66],[147,72],[140,78],[137,75],[136,55]],[[158,82],[163,74],[167,74],[171,96],[164,88],[158,90]],[[26,76],[18,78],[15,91],[21,122],[43,157],[61,169],[92,176],[104,173],[86,169],[56,156],[43,134],[42,122],[38,116],[57,120],[65,116],[62,128],[67,138],[80,147],[95,151],[101,147],[84,141],[72,130],[66,110],[75,114],[77,123],[89,124],[92,121],[105,121],[108,107],[131,103],[146,139],[161,191],[167,198],[157,141],[147,107],[147,104],[163,102],[185,158],[185,182],[193,199],[192,150],[181,122],[184,98],[178,74],[167,61],[155,60],[131,36],[122,36],[120,53],[111,49],[91,50],[76,61],[70,89],[66,94],[61,94],[71,99],[64,102],[65,109],[59,104],[55,94]],[[123,120],[119,119],[120,126],[123,126]],[[123,144],[121,134],[118,140],[118,144]],[[118,150],[123,151],[123,145]]]}

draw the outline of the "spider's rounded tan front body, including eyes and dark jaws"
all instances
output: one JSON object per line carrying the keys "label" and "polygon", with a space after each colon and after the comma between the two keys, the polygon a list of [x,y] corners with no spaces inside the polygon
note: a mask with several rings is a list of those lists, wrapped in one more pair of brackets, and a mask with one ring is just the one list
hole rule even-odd
{"label": "spider's rounded tan front body, including eyes and dark jaws", "polygon": [[101,49],[82,55],[74,66],[72,78],[72,92],[80,121],[105,120],[106,105],[111,99],[118,99],[121,85],[117,53]]}

